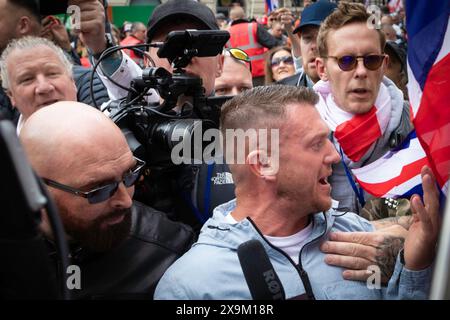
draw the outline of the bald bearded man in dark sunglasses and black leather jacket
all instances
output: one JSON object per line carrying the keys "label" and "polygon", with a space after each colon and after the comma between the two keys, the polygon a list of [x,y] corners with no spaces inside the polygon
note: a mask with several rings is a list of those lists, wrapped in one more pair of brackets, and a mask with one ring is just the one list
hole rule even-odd
{"label": "bald bearded man in dark sunglasses and black leather jacket", "polygon": [[[81,270],[73,296],[150,299],[167,267],[191,246],[193,232],[132,201],[145,162],[133,157],[120,129],[100,111],[66,101],[33,113],[20,139],[53,196],[71,262]],[[45,214],[41,230],[56,257]]]}

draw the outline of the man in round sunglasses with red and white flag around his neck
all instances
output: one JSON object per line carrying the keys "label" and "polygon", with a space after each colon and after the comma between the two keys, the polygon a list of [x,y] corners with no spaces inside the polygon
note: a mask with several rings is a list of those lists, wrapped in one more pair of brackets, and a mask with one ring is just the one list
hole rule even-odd
{"label": "man in round sunglasses with red and white flag around his neck", "polygon": [[[315,61],[321,80],[313,87],[320,96],[316,108],[332,131],[330,138],[341,154],[341,161],[333,165],[329,178],[331,196],[339,201],[341,210],[356,213],[367,200],[367,194],[361,194],[346,168],[359,168],[377,160],[398,146],[412,127],[402,92],[383,77],[389,59],[384,54],[385,38],[381,30],[368,28],[369,17],[363,5],[341,3],[322,23],[317,37],[320,57]],[[394,221],[391,223],[395,224]],[[410,221],[405,219],[402,226],[408,229]],[[372,224],[381,228],[389,225],[385,222],[378,220]],[[384,243],[395,253],[402,247],[402,234],[406,230],[399,225],[393,227],[397,229],[391,229],[393,232],[385,237]],[[322,247],[330,254],[328,263],[353,269],[344,273],[346,279],[367,278],[366,270],[358,270],[365,269],[357,267],[358,260],[360,266],[363,261],[365,265],[370,265],[370,260],[379,262],[376,254],[364,252],[381,247],[371,243],[370,236],[364,237],[352,234],[344,238],[337,234],[333,238],[336,241],[326,242]],[[364,246],[349,243],[355,239]],[[346,247],[340,246],[344,242]],[[352,246],[354,257],[350,258]],[[390,260],[378,264],[387,279],[392,274]]]}

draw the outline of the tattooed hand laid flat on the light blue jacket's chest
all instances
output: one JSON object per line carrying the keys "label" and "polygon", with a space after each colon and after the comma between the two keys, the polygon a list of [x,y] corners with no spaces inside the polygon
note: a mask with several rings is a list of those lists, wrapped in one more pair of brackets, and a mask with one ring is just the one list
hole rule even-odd
{"label": "tattooed hand laid flat on the light blue jacket's chest", "polygon": [[368,267],[377,265],[382,283],[386,284],[407,234],[399,224],[374,232],[334,232],[321,250],[326,253],[326,263],[346,269],[344,279],[365,281],[372,274],[368,273]]}

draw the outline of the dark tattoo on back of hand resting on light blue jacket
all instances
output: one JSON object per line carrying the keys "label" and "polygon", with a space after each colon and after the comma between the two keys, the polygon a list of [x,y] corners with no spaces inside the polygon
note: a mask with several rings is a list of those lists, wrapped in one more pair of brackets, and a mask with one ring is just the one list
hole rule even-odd
{"label": "dark tattoo on back of hand resting on light blue jacket", "polygon": [[380,267],[382,278],[389,281],[394,272],[395,262],[399,251],[403,248],[405,239],[402,237],[386,237],[384,241],[377,247],[377,255],[375,257]]}

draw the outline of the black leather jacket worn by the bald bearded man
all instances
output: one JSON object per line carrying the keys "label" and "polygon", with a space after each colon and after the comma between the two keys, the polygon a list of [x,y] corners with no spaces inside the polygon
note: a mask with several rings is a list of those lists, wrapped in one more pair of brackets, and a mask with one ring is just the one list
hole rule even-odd
{"label": "black leather jacket worn by the bald bearded man", "polygon": [[72,248],[71,264],[81,270],[75,299],[152,299],[166,269],[194,242],[191,228],[133,202],[130,237],[104,254]]}

